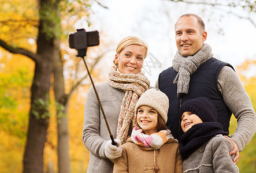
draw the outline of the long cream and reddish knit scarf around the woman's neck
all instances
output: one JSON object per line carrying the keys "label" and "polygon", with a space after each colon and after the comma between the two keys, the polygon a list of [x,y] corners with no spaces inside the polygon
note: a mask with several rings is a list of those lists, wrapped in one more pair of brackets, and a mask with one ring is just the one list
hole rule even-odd
{"label": "long cream and reddish knit scarf around the woman's neck", "polygon": [[121,144],[124,144],[131,122],[134,126],[136,103],[142,93],[149,89],[150,81],[142,70],[138,74],[123,74],[118,72],[117,66],[113,66],[109,72],[109,84],[125,91],[117,125],[117,138],[121,140]]}

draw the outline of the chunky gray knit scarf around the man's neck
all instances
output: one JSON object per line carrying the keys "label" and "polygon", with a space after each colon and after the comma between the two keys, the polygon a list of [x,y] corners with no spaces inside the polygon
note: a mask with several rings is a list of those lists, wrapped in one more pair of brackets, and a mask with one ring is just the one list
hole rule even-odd
{"label": "chunky gray knit scarf around the man's neck", "polygon": [[173,80],[173,84],[177,85],[177,96],[188,93],[190,76],[196,72],[202,63],[212,57],[212,48],[206,43],[204,43],[202,48],[193,56],[183,57],[179,51],[176,52],[172,66],[173,69],[178,72],[175,80]]}

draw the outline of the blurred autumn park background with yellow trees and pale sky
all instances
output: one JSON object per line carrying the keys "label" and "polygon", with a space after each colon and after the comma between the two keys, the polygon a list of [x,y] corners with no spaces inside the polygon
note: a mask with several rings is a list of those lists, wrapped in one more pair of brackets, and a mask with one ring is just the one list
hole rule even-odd
{"label": "blurred autumn park background with yellow trees and pale sky", "polygon": [[[91,82],[68,46],[76,29],[99,31],[100,44],[86,57],[95,83],[107,81],[118,42],[133,35],[149,44],[143,70],[154,85],[177,51],[175,22],[181,14],[198,14],[214,57],[235,67],[256,107],[255,1],[0,3],[0,172],[86,172],[90,153],[81,132]],[[235,128],[232,117],[231,134]],[[255,144],[256,137],[240,152],[242,173],[256,172]]]}

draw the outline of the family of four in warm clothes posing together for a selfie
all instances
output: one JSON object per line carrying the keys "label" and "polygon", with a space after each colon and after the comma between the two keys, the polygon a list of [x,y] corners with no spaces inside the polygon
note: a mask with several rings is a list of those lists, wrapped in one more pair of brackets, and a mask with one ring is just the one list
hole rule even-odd
{"label": "family of four in warm clothes posing together for a selfie", "polygon": [[[239,152],[256,131],[250,97],[235,70],[213,57],[205,24],[184,14],[177,53],[155,87],[144,76],[147,44],[125,37],[109,81],[96,88],[117,145],[112,145],[91,87],[84,110],[87,172],[239,172]],[[238,121],[229,136],[231,115]]]}

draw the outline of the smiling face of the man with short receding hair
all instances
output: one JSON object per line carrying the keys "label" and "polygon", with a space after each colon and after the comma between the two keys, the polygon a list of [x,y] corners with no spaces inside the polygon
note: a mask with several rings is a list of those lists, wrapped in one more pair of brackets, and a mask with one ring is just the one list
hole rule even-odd
{"label": "smiling face of the man with short receding hair", "polygon": [[201,31],[194,16],[183,16],[175,25],[176,46],[183,57],[194,55],[205,42],[207,33]]}

